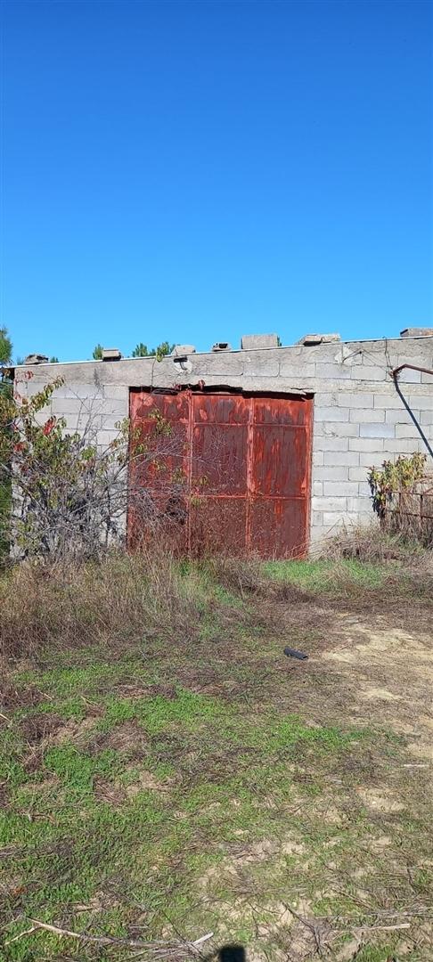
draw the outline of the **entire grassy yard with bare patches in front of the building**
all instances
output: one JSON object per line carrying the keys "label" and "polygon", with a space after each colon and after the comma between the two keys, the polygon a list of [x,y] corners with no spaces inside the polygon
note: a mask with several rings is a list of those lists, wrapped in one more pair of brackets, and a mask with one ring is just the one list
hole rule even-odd
{"label": "entire grassy yard with bare patches in front of the building", "polygon": [[[351,560],[164,565],[166,580],[118,558],[23,568],[0,587],[2,958],[131,957],[46,931],[12,941],[31,919],[176,958],[208,931],[211,953],[277,962],[318,945],[430,957],[422,579],[409,595],[410,572]],[[377,639],[414,610],[411,667]]]}

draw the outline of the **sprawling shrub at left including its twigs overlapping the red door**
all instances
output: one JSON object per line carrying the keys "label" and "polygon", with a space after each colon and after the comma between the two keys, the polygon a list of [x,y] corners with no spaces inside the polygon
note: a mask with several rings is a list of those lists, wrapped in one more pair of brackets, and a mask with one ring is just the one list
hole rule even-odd
{"label": "sprawling shrub at left including its twigs overlapping the red door", "polygon": [[[25,378],[32,377],[27,371]],[[58,378],[30,397],[0,392],[0,488],[6,493],[0,535],[20,557],[98,557],[122,542],[128,510],[139,529],[161,527],[167,520],[163,502],[177,503],[183,494],[182,439],[158,411],[150,413],[145,438],[125,419],[102,446],[100,417],[91,410],[72,431],[64,418],[44,417],[63,383]]]}

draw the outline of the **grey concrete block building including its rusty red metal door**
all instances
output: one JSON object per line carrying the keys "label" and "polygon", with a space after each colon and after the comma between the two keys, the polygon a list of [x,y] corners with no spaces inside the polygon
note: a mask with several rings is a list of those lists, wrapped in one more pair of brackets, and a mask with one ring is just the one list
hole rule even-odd
{"label": "grey concrete block building including its rusty red metal door", "polygon": [[[305,553],[342,525],[372,518],[370,466],[421,451],[433,468],[433,329],[373,341],[309,335],[293,346],[245,336],[239,350],[178,345],[161,361],[115,350],[71,364],[35,357],[15,369],[18,391],[61,376],[46,417],[80,430],[91,410],[102,445],[120,419],[144,424],[154,406],[182,423],[190,494],[196,452],[217,426],[220,470],[203,494],[205,510],[216,528],[236,530],[242,550]],[[228,484],[221,475],[230,465]]]}

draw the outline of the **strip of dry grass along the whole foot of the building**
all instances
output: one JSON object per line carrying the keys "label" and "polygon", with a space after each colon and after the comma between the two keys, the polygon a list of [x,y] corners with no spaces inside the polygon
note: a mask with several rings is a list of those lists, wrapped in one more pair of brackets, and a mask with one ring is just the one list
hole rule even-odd
{"label": "strip of dry grass along the whole foot of the building", "polygon": [[230,640],[242,621],[273,629],[281,605],[304,607],[302,618],[310,622],[314,602],[331,596],[337,604],[350,598],[366,611],[404,602],[403,616],[411,617],[420,598],[433,596],[433,553],[375,526],[340,534],[324,554],[329,564],[311,563],[318,571],[309,579],[303,573],[309,563],[264,566],[256,558],[182,563],[165,549],[112,553],[100,563],[81,565],[25,562],[0,578],[0,657],[6,665],[53,647],[118,650],[143,638],[190,644],[213,616]]}

